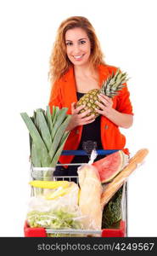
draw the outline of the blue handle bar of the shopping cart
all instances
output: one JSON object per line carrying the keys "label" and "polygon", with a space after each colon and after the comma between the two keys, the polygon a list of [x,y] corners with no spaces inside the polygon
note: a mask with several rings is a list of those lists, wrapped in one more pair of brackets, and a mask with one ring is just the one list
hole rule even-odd
{"label": "blue handle bar of the shopping cart", "polygon": [[[119,149],[108,149],[108,150],[98,149],[96,151],[97,151],[97,154],[104,155],[104,154],[112,154],[118,150]],[[85,150],[63,150],[62,155],[88,155],[88,154]]]}

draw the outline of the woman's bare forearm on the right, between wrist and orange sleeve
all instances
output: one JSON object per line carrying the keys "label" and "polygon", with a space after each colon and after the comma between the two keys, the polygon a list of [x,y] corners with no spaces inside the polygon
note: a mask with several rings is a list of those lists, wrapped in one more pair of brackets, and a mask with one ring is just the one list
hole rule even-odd
{"label": "woman's bare forearm on the right, between wrist and orange sleeve", "polygon": [[133,123],[133,116],[132,114],[128,113],[120,113],[114,108],[109,112],[107,118],[112,121],[115,125],[118,125],[122,128],[129,128],[132,126]]}

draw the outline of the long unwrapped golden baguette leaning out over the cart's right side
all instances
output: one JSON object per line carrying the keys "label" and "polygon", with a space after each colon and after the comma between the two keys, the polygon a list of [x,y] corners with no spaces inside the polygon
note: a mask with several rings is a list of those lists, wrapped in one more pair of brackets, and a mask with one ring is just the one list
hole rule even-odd
{"label": "long unwrapped golden baguette leaning out over the cart's right side", "polygon": [[149,154],[147,148],[143,148],[137,151],[137,153],[129,160],[128,165],[110,182],[104,192],[101,195],[101,206],[104,206],[109,202],[111,197],[115,195],[116,191],[121,188],[121,185],[126,181],[126,178],[137,168],[137,165],[143,162],[146,155]]}

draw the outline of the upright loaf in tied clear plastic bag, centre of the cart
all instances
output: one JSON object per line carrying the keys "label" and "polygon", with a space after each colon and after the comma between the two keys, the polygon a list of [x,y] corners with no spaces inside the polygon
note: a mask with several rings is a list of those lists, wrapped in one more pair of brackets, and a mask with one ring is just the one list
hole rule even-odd
{"label": "upright loaf in tied clear plastic bag, centre of the cart", "polygon": [[77,170],[81,187],[79,207],[82,216],[88,217],[83,219],[84,229],[86,230],[101,230],[102,224],[103,211],[100,199],[103,188],[97,169],[92,166],[95,156],[96,154],[93,151],[89,163],[80,166]]}

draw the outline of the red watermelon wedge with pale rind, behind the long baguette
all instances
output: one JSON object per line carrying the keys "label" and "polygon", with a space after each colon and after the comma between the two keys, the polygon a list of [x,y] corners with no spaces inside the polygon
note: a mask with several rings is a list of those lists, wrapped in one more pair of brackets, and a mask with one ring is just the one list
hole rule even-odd
{"label": "red watermelon wedge with pale rind, behind the long baguette", "polygon": [[109,154],[93,163],[98,170],[102,183],[109,183],[126,166],[128,157],[122,150]]}

